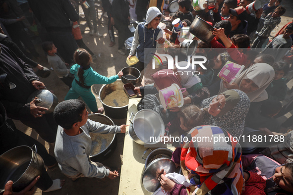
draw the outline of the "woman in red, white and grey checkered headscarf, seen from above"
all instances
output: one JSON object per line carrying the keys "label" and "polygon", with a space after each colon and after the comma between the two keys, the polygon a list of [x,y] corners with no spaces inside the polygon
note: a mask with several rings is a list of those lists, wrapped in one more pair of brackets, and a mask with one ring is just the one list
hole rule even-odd
{"label": "woman in red, white and grey checkered headscarf, seen from above", "polygon": [[[198,126],[190,130],[188,142],[181,148],[180,166],[191,186],[176,184],[162,174],[161,188],[171,195],[241,194],[241,146],[227,137],[230,134],[216,126]],[[219,138],[218,142],[214,142],[215,138]]]}

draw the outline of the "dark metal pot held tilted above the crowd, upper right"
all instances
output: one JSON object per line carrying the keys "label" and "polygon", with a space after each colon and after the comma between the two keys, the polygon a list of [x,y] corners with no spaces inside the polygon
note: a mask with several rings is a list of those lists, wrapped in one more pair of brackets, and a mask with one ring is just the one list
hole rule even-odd
{"label": "dark metal pot held tilted above the crowd, upper right", "polygon": [[215,37],[212,33],[213,29],[214,27],[212,25],[208,24],[197,15],[189,27],[189,32],[201,41],[210,43]]}

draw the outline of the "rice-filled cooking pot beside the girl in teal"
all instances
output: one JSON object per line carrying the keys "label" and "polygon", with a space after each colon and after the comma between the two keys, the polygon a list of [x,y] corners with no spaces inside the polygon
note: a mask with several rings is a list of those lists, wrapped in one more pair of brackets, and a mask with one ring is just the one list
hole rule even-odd
{"label": "rice-filled cooking pot beside the girl in teal", "polygon": [[99,92],[99,99],[103,104],[107,116],[115,119],[127,117],[129,98],[123,91],[121,79],[118,79],[114,83],[103,85]]}

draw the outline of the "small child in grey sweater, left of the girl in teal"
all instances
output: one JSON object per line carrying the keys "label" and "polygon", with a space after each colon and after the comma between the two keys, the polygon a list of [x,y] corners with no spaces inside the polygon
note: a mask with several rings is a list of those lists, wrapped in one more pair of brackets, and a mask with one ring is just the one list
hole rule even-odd
{"label": "small child in grey sweater, left of the girl in teal", "polygon": [[70,89],[73,77],[69,74],[69,69],[66,67],[68,64],[64,63],[59,55],[55,54],[57,53],[57,48],[53,42],[44,42],[42,47],[48,54],[47,57],[49,64],[54,69],[59,79],[61,79],[61,81],[63,81],[63,83]]}

